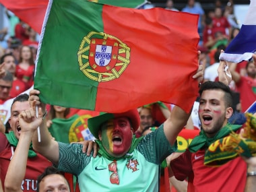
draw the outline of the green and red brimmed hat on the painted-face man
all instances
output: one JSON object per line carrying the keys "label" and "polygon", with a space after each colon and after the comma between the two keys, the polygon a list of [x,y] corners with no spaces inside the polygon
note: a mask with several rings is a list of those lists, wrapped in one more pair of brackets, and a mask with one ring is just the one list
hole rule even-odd
{"label": "green and red brimmed hat on the painted-face man", "polygon": [[102,123],[117,117],[127,117],[131,121],[131,127],[133,127],[134,132],[139,128],[140,119],[137,108],[128,110],[124,113],[104,113],[102,115],[92,117],[88,119],[88,128],[92,135],[98,139],[98,131],[100,130]]}

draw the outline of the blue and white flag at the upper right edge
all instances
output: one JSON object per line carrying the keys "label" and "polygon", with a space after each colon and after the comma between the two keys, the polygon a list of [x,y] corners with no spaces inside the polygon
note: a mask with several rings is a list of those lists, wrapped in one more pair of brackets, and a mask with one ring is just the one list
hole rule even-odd
{"label": "blue and white flag at the upper right edge", "polygon": [[238,35],[230,42],[220,60],[240,63],[249,61],[256,51],[256,0],[251,0],[245,22]]}

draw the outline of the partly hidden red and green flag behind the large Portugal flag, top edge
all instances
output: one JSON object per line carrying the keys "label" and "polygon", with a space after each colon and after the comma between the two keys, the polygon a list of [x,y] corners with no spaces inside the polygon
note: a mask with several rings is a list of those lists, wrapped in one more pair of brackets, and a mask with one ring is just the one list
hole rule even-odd
{"label": "partly hidden red and green flag behind the large Portugal flag, top edge", "polygon": [[[88,0],[89,1],[89,0]],[[146,0],[90,0],[120,7],[140,7]],[[49,0],[0,0],[7,9],[40,34]]]}

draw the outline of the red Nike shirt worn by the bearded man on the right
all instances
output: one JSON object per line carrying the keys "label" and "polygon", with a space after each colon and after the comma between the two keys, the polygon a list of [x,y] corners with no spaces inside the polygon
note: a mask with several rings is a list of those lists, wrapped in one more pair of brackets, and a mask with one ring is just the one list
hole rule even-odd
{"label": "red Nike shirt worn by the bearded man on the right", "polygon": [[[191,153],[189,150],[170,162],[174,176],[183,181],[189,177],[188,191],[219,192],[244,191],[247,177],[247,164],[241,158],[230,160],[218,167],[205,166],[204,150]],[[193,182],[193,186],[191,183]]]}

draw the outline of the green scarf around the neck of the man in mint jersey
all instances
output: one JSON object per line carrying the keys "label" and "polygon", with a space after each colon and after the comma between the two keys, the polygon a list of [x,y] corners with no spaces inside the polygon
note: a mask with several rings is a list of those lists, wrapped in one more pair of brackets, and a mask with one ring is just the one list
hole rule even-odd
{"label": "green scarf around the neck of the man in mint jersey", "polygon": [[131,153],[137,147],[137,144],[139,141],[141,141],[141,139],[143,139],[143,137],[135,138],[135,135],[133,135],[133,140],[131,141],[131,148],[129,149],[129,152],[127,152],[127,154],[121,158],[110,156],[110,154],[108,154],[108,152],[106,152],[105,148],[102,146],[102,142],[100,140],[97,139],[95,142],[99,146],[98,154],[100,154],[100,156],[104,156],[104,158],[107,158],[108,160],[120,160],[122,158],[127,158],[129,160],[132,158]]}

